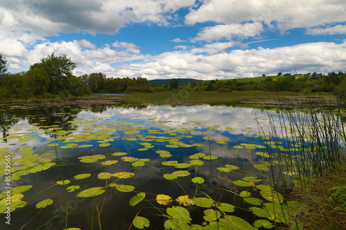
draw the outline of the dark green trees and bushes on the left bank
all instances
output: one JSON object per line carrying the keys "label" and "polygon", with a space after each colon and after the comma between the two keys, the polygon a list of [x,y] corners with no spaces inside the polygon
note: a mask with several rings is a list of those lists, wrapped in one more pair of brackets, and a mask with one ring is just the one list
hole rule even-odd
{"label": "dark green trees and bushes on the left bank", "polygon": [[6,60],[0,55],[0,70],[3,72],[0,73],[0,99],[91,93],[81,79],[72,75],[76,64],[66,55],[55,57],[52,53],[23,73],[4,73],[7,71],[5,64]]}

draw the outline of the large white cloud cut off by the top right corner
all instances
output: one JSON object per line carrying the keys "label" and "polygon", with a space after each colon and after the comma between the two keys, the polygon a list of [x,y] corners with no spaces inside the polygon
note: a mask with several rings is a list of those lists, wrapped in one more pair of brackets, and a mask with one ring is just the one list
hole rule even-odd
{"label": "large white cloud cut off by the top right corner", "polygon": [[344,0],[210,0],[185,17],[188,24],[215,21],[231,24],[261,21],[282,31],[311,28],[346,18]]}

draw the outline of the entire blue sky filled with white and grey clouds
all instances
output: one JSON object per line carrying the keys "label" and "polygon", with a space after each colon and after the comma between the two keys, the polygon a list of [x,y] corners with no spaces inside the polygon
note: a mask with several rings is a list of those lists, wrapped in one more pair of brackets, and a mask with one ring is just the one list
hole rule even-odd
{"label": "entire blue sky filled with white and grey clouds", "polygon": [[10,73],[51,55],[74,75],[237,79],[346,71],[345,0],[0,1]]}

